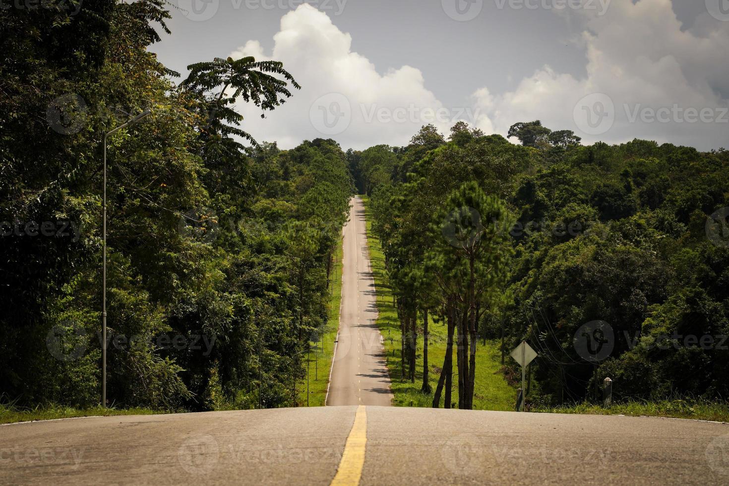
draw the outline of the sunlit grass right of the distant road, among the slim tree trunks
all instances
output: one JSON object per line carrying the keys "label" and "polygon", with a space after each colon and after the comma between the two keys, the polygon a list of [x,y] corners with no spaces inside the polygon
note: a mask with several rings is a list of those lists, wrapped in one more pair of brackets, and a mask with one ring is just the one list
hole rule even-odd
{"label": "sunlit grass right of the distant road, among the slim tree trunks", "polygon": [[[362,196],[367,216],[367,245],[370,249],[370,262],[375,275],[375,290],[377,294],[378,319],[377,325],[380,328],[385,340],[387,353],[387,367],[392,380],[392,391],[394,393],[394,405],[404,407],[431,407],[433,396],[421,392],[423,383],[423,355],[422,355],[422,331],[418,342],[418,361],[416,372],[416,383],[409,380],[402,380],[400,353],[400,324],[397,319],[397,310],[392,301],[392,291],[389,286],[389,278],[385,270],[384,256],[380,241],[370,230],[371,215],[369,209],[369,198]],[[422,319],[422,318],[421,318]],[[434,324],[429,322],[429,345],[428,364],[429,381],[433,389],[440,377],[440,367],[443,366],[445,358],[445,324]],[[480,410],[512,410],[516,403],[516,391],[504,379],[501,369],[501,355],[495,342],[487,341],[486,345],[478,343],[476,351],[476,381],[473,407]],[[456,356],[453,353],[454,373],[457,373]],[[444,393],[445,394],[445,391]],[[443,407],[443,394],[440,399],[440,407]],[[458,376],[453,376],[452,401],[458,404]]]}

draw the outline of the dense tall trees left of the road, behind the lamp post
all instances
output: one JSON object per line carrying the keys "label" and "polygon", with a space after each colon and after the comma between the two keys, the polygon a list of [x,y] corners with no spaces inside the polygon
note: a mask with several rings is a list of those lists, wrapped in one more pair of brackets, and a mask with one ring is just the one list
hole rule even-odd
{"label": "dense tall trees left of the road, behind the lamp post", "polygon": [[109,400],[292,404],[327,319],[346,154],[330,140],[246,149],[235,101],[274,109],[298,85],[252,58],[195,64],[175,85],[147,51],[163,0],[66,4],[0,10],[0,393],[98,404],[102,140],[150,109],[109,136]]}

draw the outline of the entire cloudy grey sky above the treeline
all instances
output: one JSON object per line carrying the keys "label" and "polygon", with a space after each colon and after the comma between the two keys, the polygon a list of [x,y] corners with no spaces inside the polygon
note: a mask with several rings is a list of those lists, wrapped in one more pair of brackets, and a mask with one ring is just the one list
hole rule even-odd
{"label": "entire cloudy grey sky above the treeline", "polygon": [[176,71],[284,62],[302,90],[243,128],[290,148],[404,145],[427,123],[541,119],[583,141],[729,148],[729,0],[171,0]]}

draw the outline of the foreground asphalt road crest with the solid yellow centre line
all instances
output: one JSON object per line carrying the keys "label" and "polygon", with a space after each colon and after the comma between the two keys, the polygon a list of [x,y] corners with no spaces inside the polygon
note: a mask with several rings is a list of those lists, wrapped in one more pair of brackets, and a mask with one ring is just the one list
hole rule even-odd
{"label": "foreground asphalt road crest with the solid yellow centre line", "polygon": [[19,423],[0,441],[2,485],[729,484],[728,425],[660,418],[312,407]]}

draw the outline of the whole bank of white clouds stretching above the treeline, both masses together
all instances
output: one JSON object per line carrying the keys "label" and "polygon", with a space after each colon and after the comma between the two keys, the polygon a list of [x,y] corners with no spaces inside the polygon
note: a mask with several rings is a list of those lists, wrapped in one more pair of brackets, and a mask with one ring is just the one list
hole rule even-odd
{"label": "whole bank of white clouds stretching above the treeline, both masses together", "polygon": [[[671,0],[612,0],[604,15],[598,14],[565,17],[583,26],[577,42],[585,47],[585,77],[542,66],[507,93],[477,90],[472,106],[460,109],[444,107],[418,68],[379,73],[352,52],[349,34],[303,4],[281,18],[270,55],[255,40],[232,53],[281,60],[303,86],[265,119],[255,107],[241,104],[243,128],[284,148],[323,137],[345,149],[363,149],[408,144],[429,122],[447,133],[457,119],[465,119],[505,136],[515,122],[541,119],[555,130],[574,130],[587,143],[647,138],[700,149],[729,145],[729,22],[705,13],[682,31]],[[578,104],[583,99],[590,103],[585,109]],[[607,113],[611,105],[614,110]],[[585,125],[588,115],[593,127]]]}

